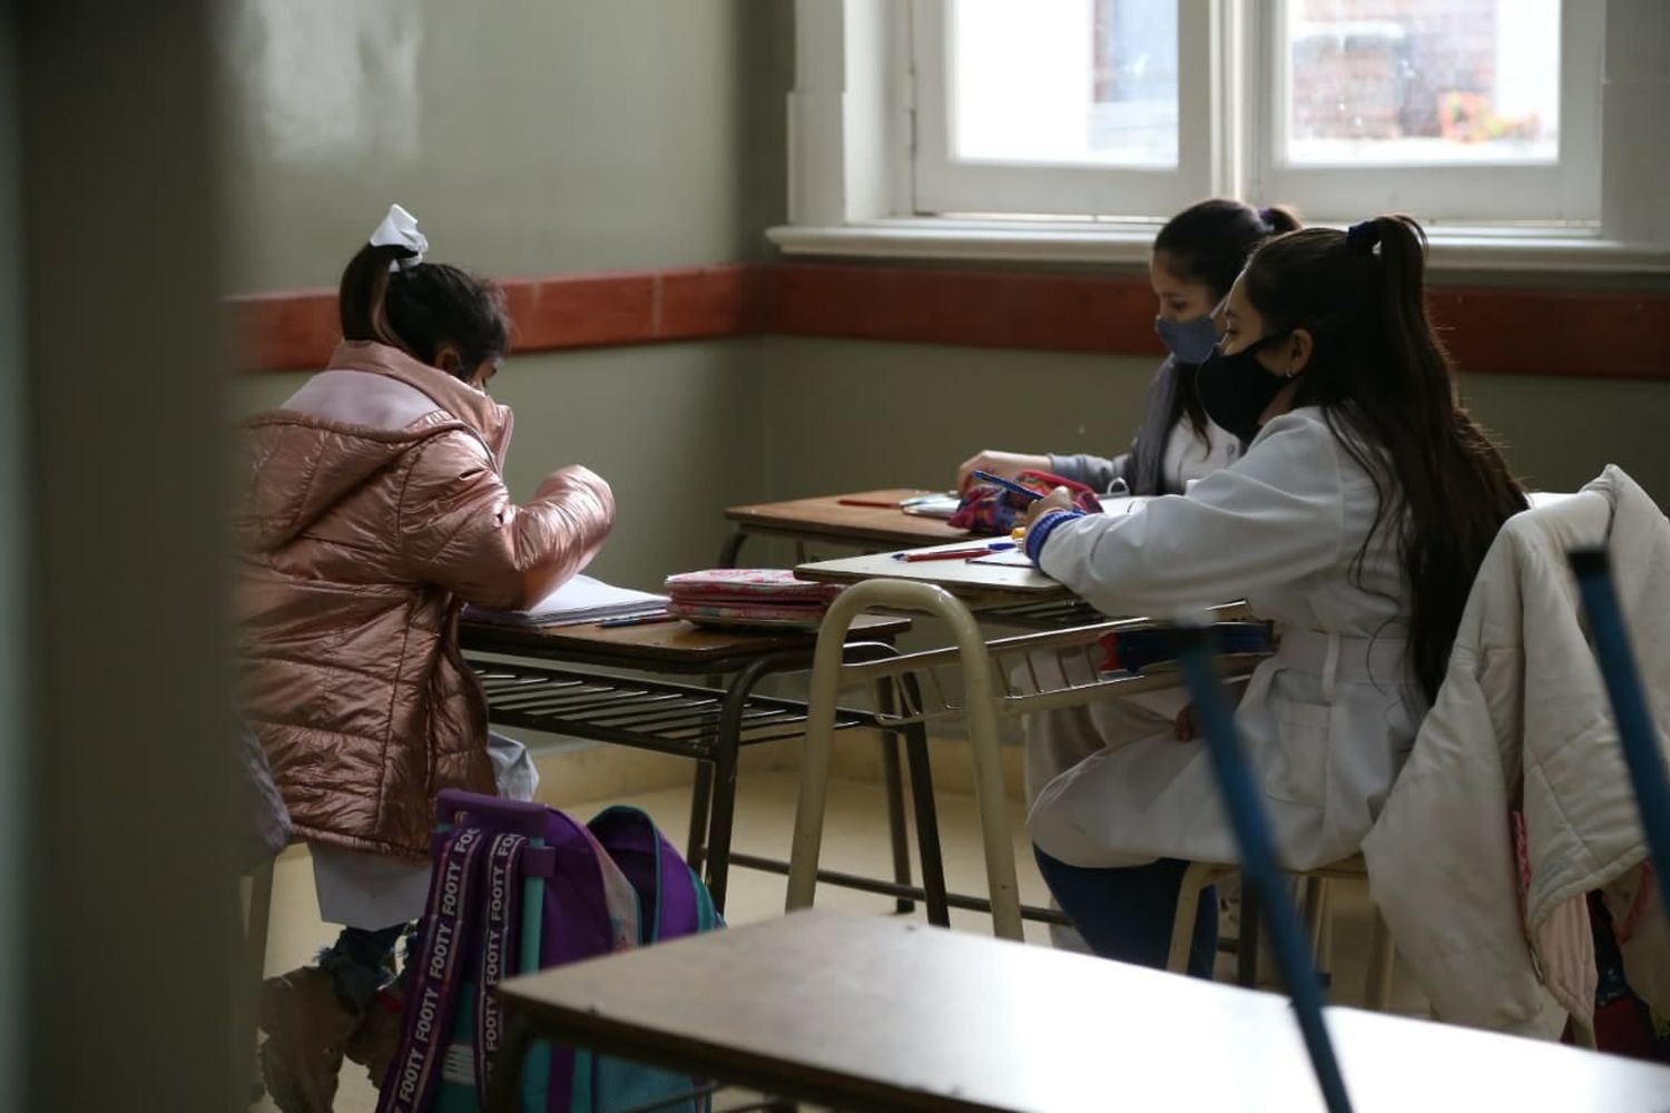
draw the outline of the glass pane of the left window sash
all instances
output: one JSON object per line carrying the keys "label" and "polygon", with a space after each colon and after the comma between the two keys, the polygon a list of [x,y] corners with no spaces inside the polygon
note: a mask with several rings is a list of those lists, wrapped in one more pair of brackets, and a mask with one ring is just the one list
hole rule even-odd
{"label": "glass pane of the left window sash", "polygon": [[952,0],[952,157],[1177,165],[1176,0]]}

